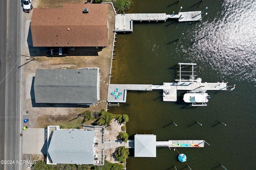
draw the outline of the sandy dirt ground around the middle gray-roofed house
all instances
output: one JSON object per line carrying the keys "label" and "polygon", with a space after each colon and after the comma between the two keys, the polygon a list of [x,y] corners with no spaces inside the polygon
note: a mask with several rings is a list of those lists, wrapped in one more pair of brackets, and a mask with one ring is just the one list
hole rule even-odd
{"label": "sandy dirt ground around the middle gray-roofed house", "polygon": [[[86,0],[80,0],[82,3],[87,2]],[[81,3],[80,2],[80,3]],[[34,8],[37,5],[44,7],[42,5],[42,0],[33,0]],[[33,10],[32,10],[33,12]],[[30,29],[30,22],[32,17],[32,12],[25,16],[26,19],[26,33],[28,37],[26,40],[32,40],[29,37],[28,30]],[[22,57],[22,114],[23,117],[29,117],[28,127],[33,128],[44,128],[48,125],[58,125],[58,123],[68,122],[73,117],[77,117],[78,114],[90,110],[92,112],[98,112],[101,109],[106,108],[106,100],[108,93],[108,79],[110,72],[110,62],[112,53],[112,42],[114,36],[114,11],[112,6],[109,4],[108,8],[108,47],[102,49],[98,52],[98,55],[94,56],[67,56],[67,57],[33,57],[33,59],[27,59]],[[29,43],[24,45],[23,54],[30,56],[31,47]],[[84,67],[98,67],[100,68],[100,100],[98,103],[88,107],[54,107],[54,105],[44,105],[44,107],[33,107],[32,101],[33,88],[32,80],[34,79],[36,69],[78,69]],[[121,131],[121,126],[117,121],[112,120],[112,124],[106,130],[106,140],[116,140],[119,132]],[[115,162],[114,158],[110,155],[115,149],[107,150],[106,156],[107,160],[110,162]]]}

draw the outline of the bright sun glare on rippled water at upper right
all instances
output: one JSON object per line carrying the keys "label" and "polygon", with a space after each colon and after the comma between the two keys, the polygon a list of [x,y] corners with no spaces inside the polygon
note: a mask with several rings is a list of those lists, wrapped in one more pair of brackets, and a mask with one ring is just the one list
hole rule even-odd
{"label": "bright sun glare on rippled water at upper right", "polygon": [[[220,19],[188,32],[192,46],[181,47],[187,60],[208,63],[222,78],[256,82],[256,1],[226,0]],[[186,49],[185,49],[186,48]]]}

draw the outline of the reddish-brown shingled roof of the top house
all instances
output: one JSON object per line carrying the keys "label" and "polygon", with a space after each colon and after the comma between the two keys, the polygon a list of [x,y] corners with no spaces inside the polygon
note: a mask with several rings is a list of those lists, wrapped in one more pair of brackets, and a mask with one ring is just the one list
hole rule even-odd
{"label": "reddish-brown shingled roof of the top house", "polygon": [[106,47],[108,4],[34,8],[30,27],[34,47]]}

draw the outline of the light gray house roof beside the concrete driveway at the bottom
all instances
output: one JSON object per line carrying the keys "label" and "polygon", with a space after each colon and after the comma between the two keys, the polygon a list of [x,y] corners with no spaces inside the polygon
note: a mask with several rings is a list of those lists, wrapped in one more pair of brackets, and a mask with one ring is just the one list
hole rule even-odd
{"label": "light gray house roof beside the concrete driveway at the bottom", "polygon": [[48,153],[54,164],[94,164],[94,131],[54,130]]}

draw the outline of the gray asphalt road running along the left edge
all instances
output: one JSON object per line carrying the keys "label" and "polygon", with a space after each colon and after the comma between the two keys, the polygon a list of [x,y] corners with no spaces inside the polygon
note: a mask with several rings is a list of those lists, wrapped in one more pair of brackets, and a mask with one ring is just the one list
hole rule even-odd
{"label": "gray asphalt road running along the left edge", "polygon": [[[7,4],[7,5],[6,5]],[[1,0],[1,80],[0,109],[0,153],[1,160],[15,161],[14,164],[1,164],[0,169],[20,170],[22,166],[16,160],[22,160],[21,149],[21,69],[22,63],[22,7],[20,1]],[[7,14],[7,16],[6,16]],[[4,151],[4,152],[2,152]],[[3,157],[4,156],[4,157]],[[6,162],[8,163],[8,162]]]}

